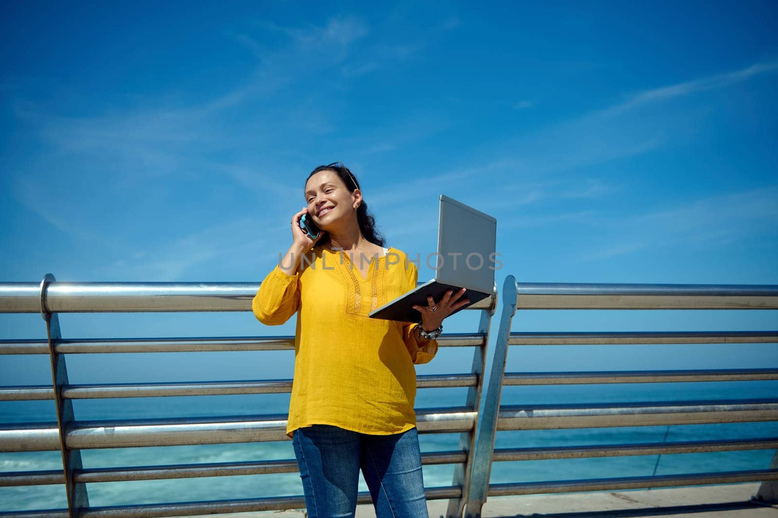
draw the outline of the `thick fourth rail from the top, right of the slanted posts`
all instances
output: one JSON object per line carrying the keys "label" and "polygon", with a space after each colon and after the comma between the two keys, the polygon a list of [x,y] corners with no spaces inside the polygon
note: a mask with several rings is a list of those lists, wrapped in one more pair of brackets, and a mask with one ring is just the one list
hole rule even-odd
{"label": "thick fourth rail from the top, right of the slanted posts", "polygon": [[497,430],[698,425],[778,420],[778,400],[536,404],[499,408]]}

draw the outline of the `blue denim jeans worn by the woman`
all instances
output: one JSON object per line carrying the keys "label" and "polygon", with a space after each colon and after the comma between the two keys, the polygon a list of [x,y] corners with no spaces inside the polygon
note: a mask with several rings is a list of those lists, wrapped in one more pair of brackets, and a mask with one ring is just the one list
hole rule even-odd
{"label": "blue denim jeans worn by the woman", "polygon": [[415,428],[388,436],[331,425],[294,431],[308,518],[354,516],[359,469],[377,518],[429,518]]}

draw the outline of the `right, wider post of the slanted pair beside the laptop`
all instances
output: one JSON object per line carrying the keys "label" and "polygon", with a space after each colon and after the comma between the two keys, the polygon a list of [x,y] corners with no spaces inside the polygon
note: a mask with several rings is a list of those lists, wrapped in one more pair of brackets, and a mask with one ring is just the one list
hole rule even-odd
{"label": "right, wider post of the slanted pair beside the laptop", "polygon": [[499,398],[503,390],[503,376],[508,352],[510,323],[516,313],[516,279],[508,275],[503,282],[503,311],[499,318],[499,331],[494,346],[492,372],[489,374],[489,387],[482,415],[479,416],[478,436],[475,442],[475,458],[471,470],[468,501],[465,502],[464,516],[477,518],[489,495],[489,474],[492,472],[492,452],[494,436],[499,415]]}

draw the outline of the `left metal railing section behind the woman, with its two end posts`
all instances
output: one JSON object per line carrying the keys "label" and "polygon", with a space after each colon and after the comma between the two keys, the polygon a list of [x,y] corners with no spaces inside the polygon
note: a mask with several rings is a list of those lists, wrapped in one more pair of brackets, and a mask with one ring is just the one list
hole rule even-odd
{"label": "left metal railing section behind the woman, with its two end posts", "polygon": [[[419,283],[422,284],[422,283]],[[51,386],[0,388],[0,401],[54,400],[57,421],[0,426],[0,452],[61,450],[62,470],[5,472],[0,486],[65,484],[68,509],[19,511],[0,516],[180,516],[201,513],[237,513],[296,509],[305,506],[303,496],[232,499],[210,502],[160,502],[156,505],[90,507],[86,484],[107,481],[139,481],[166,478],[217,477],[245,474],[294,473],[295,460],[253,460],[231,463],[176,464],[145,467],[88,468],[81,450],[130,446],[249,443],[288,440],[286,415],[252,415],[213,418],[160,418],[81,422],[73,414],[72,401],[86,398],[169,397],[216,394],[289,393],[292,380],[244,380],[192,383],[70,383],[66,355],[124,352],[202,352],[293,350],[294,337],[225,338],[62,338],[58,313],[78,312],[199,312],[251,311],[258,283],[73,283],[43,282],[0,284],[0,313],[38,313],[44,317],[47,340],[2,340],[0,355],[49,355]],[[475,333],[450,333],[438,338],[441,347],[473,347],[467,373],[417,376],[417,387],[467,387],[461,407],[416,409],[420,433],[458,432],[457,450],[422,453],[422,464],[454,464],[454,479],[447,487],[426,488],[427,499],[449,499],[449,513],[464,507],[463,495],[475,453],[475,431],[481,401],[486,345],[496,310],[496,285],[492,296],[468,307],[481,312]],[[54,416],[52,416],[54,417]],[[368,493],[359,502],[370,502]]]}

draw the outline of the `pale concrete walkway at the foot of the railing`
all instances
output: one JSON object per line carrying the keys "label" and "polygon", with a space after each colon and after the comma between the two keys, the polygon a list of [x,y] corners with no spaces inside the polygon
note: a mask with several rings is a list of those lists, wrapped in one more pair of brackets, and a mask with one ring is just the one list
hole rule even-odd
{"label": "pale concrete walkway at the foot of the railing", "polygon": [[[778,508],[750,502],[759,484],[710,485],[694,488],[593,492],[490,498],[483,518],[778,518]],[[446,512],[447,501],[430,501],[429,518]],[[302,518],[303,509],[234,513],[223,518]],[[373,506],[357,506],[356,518],[375,518]]]}

